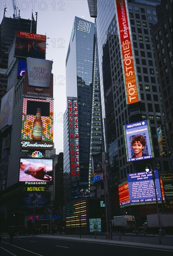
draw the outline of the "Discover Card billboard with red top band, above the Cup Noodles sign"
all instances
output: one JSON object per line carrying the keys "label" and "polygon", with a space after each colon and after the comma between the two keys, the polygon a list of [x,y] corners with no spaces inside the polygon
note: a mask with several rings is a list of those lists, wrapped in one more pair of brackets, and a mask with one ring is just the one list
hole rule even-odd
{"label": "Discover Card billboard with red top band, above the Cup Noodles sign", "polygon": [[46,36],[17,31],[14,55],[18,57],[45,59]]}

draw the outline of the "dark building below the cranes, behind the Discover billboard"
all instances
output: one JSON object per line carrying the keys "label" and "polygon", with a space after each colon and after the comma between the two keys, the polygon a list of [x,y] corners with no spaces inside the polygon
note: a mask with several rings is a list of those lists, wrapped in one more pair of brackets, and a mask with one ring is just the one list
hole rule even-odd
{"label": "dark building below the cranes, behind the Discover billboard", "polygon": [[[7,91],[7,76],[10,73],[14,63],[8,63],[8,54],[15,39],[16,31],[29,32],[31,31],[31,20],[21,19],[20,16],[13,19],[5,16],[0,24],[0,100]],[[37,32],[37,23],[32,21],[32,33]]]}

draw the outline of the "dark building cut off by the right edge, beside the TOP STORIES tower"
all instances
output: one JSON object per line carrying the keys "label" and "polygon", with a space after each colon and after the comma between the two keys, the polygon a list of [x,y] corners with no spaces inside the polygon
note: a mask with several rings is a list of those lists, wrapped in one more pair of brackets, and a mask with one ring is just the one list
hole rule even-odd
{"label": "dark building cut off by the right edge, beside the TOP STORIES tower", "polygon": [[162,0],[156,13],[158,23],[152,27],[152,39],[169,143],[167,154],[173,165],[173,1]]}

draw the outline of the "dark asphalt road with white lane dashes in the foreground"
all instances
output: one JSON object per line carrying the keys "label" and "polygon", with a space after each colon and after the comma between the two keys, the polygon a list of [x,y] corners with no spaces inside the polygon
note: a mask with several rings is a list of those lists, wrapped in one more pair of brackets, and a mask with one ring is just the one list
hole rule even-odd
{"label": "dark asphalt road with white lane dashes in the foreground", "polygon": [[0,256],[172,256],[172,250],[141,248],[139,246],[109,244],[37,236],[14,237],[0,243]]}

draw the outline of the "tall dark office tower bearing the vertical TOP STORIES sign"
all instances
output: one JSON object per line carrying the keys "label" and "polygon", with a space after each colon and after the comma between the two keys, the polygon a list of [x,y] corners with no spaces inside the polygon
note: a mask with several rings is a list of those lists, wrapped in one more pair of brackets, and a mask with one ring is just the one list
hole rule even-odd
{"label": "tall dark office tower bearing the vertical TOP STORIES sign", "polygon": [[[88,6],[92,7],[89,2]],[[118,4],[121,5],[118,7],[118,12],[122,15],[121,20],[116,14]],[[156,6],[159,4],[160,0],[97,1],[95,15],[97,15],[100,88],[103,100],[101,103],[106,152],[109,157],[109,168],[112,171],[110,182],[112,182],[113,202],[116,198],[113,191],[116,190],[118,183],[127,181],[128,173],[145,171],[147,163],[156,168],[156,161],[160,161],[160,173],[171,171],[168,155],[164,153],[160,156],[157,137],[158,126],[162,126],[166,132],[151,37],[151,28],[157,23]],[[120,42],[120,35],[123,33],[124,40]],[[127,34],[129,34],[128,40],[126,40]],[[122,53],[123,46],[124,53]],[[134,83],[128,80],[132,74],[130,72],[132,70],[129,69],[132,63],[133,82],[135,81],[136,88]],[[123,128],[125,125],[143,123],[143,121],[149,123],[154,157],[129,161],[126,145],[130,150],[131,142],[125,140]],[[167,148],[166,139],[164,143]],[[116,209],[113,210],[113,214],[117,214]]]}

